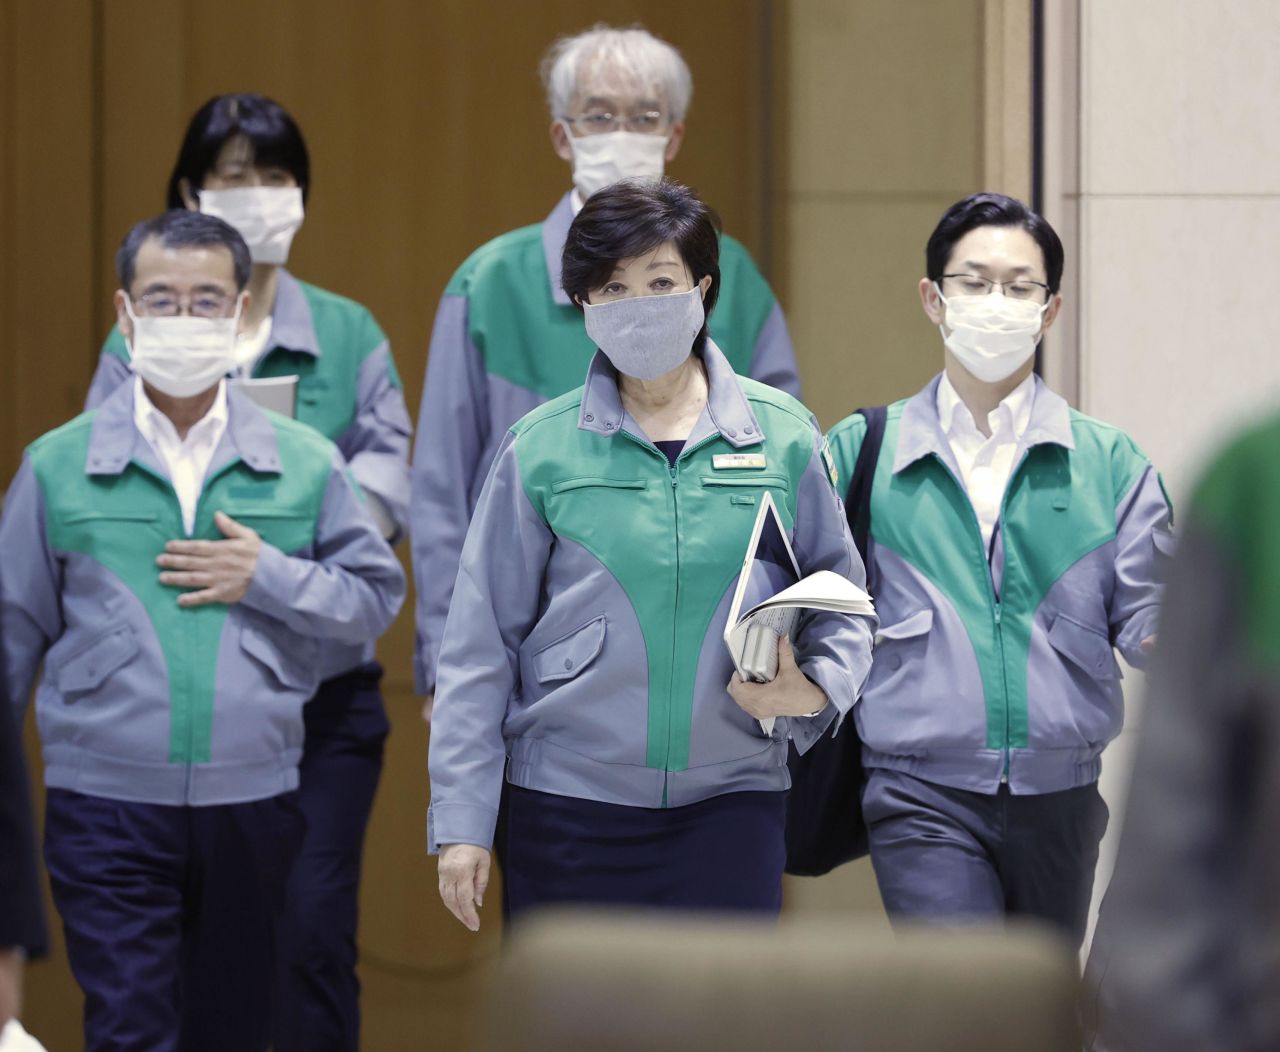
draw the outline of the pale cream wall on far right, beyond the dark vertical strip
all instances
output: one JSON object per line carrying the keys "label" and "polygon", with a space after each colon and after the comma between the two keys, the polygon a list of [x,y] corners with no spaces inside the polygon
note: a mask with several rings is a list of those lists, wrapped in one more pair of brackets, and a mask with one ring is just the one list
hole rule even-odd
{"label": "pale cream wall on far right, beyond the dark vertical strip", "polygon": [[[1046,8],[1046,210],[1075,267],[1051,376],[1082,410],[1133,435],[1176,508],[1212,447],[1280,401],[1280,5]],[[1143,687],[1128,677],[1129,719],[1103,763],[1112,823],[1096,901]]]}

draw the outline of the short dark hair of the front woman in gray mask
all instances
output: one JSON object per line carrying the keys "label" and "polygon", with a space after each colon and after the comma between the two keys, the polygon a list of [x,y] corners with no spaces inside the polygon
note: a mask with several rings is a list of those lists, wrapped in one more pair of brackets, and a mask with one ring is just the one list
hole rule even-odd
{"label": "short dark hair of the front woman in gray mask", "polygon": [[[593,193],[573,218],[561,259],[561,285],[579,310],[591,289],[613,275],[620,260],[644,255],[671,241],[694,275],[708,274],[703,311],[710,317],[719,298],[719,216],[689,187],[671,179],[630,180]],[[707,325],[694,339],[694,353],[707,343]]]}

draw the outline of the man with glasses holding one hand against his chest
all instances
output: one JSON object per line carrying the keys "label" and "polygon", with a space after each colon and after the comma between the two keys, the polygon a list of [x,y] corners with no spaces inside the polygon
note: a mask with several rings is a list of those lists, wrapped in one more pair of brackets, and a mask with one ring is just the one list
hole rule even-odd
{"label": "man with glasses holding one hand against his chest", "polygon": [[[264,1049],[321,648],[404,595],[337,448],[229,389],[250,253],[170,211],[116,255],[136,376],[28,449],[0,520],[9,694],[88,1049]],[[20,712],[20,709],[19,709]]]}

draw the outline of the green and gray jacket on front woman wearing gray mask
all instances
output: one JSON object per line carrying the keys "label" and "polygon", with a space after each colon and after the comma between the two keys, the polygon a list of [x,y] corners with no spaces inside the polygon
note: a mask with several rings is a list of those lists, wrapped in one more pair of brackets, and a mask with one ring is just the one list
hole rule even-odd
{"label": "green and gray jacket on front woman wearing gray mask", "polygon": [[[831,705],[780,718],[739,708],[723,631],[759,502],[772,493],[806,573],[861,585],[822,457],[791,395],[704,352],[709,394],[672,466],[626,413],[596,355],[586,385],[507,433],[467,532],[440,649],[429,846],[493,840],[503,767],[513,785],[637,808],[790,785],[849,712],[876,619],[801,622],[800,668]],[[763,467],[717,457],[759,453]]]}

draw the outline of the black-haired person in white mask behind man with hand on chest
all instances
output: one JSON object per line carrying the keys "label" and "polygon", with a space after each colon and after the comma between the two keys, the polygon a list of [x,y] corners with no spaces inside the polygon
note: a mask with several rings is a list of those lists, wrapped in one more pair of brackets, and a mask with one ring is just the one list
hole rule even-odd
{"label": "black-haired person in white mask behind man with hand on chest", "polygon": [[[310,187],[311,163],[297,123],[279,102],[241,92],[210,99],[191,119],[168,202],[224,219],[248,243],[253,269],[237,372],[298,378],[297,418],[338,445],[366,507],[394,541],[408,518],[404,393],[374,316],[284,269]],[[132,376],[129,361],[124,337],[113,329],[88,408]],[[353,1052],[360,1039],[357,886],[390,726],[372,645],[326,644],[323,674],[303,708],[300,802],[307,836],[280,929],[276,1052]]]}

